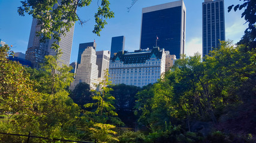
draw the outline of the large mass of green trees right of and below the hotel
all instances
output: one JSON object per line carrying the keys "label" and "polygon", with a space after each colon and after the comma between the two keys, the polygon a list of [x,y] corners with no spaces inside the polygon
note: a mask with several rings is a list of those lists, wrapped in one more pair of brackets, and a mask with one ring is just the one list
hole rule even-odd
{"label": "large mass of green trees right of and below the hotel", "polygon": [[243,48],[221,42],[204,61],[199,54],[176,60],[158,83],[138,92],[138,122],[151,132],[170,125],[190,131],[192,120],[217,124],[227,105],[255,100],[255,60]]}

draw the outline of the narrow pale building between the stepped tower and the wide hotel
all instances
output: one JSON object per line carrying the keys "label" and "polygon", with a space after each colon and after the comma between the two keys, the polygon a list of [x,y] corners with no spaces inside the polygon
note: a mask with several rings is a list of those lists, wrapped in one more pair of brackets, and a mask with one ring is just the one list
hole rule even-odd
{"label": "narrow pale building between the stepped tower and the wide hotel", "polygon": [[97,51],[98,77],[103,80],[106,70],[109,69],[110,51]]}

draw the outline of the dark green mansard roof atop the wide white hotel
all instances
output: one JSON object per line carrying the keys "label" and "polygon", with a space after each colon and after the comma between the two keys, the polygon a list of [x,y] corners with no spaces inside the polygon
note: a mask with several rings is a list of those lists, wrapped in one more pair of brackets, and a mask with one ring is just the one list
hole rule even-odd
{"label": "dark green mansard roof atop the wide white hotel", "polygon": [[150,58],[161,59],[162,52],[164,52],[164,49],[159,49],[159,47],[154,47],[150,50],[140,49],[134,52],[125,51],[123,53],[120,51],[112,58],[112,61],[122,61],[124,64],[146,63],[146,60],[149,60]]}

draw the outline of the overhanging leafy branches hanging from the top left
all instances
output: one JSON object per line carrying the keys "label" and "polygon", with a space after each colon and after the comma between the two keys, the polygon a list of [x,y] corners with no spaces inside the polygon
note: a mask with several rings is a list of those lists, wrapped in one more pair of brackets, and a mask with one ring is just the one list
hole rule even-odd
{"label": "overhanging leafy branches hanging from the top left", "polygon": [[[81,24],[85,23],[80,20],[77,15],[77,9],[88,7],[91,0],[53,0],[53,1],[37,1],[25,0],[21,1],[22,6],[18,8],[19,15],[24,16],[25,13],[32,15],[37,19],[37,25],[41,26],[41,30],[37,32],[41,36],[40,41],[46,42],[47,39],[55,39],[53,46],[58,49],[56,43],[61,40],[61,35],[65,35],[74,26],[74,23],[79,20]],[[101,7],[98,6],[98,11],[95,13],[95,27],[93,32],[100,36],[100,31],[107,24],[107,18],[113,18],[114,13],[110,11],[109,1],[102,0]]]}

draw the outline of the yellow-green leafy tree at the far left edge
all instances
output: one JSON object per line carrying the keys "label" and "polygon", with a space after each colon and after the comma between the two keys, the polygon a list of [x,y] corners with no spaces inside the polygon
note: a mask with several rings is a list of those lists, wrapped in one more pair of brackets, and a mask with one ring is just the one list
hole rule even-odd
{"label": "yellow-green leafy tree at the far left edge", "polygon": [[[1,47],[0,55],[7,55],[8,45]],[[19,63],[0,59],[0,114],[10,119],[16,113],[34,111],[32,102],[37,102],[37,92],[31,88],[31,80],[25,68]]]}

